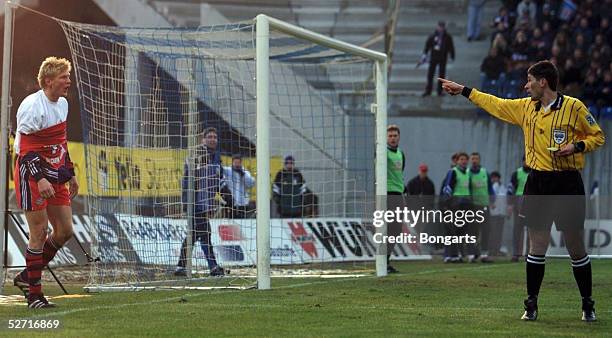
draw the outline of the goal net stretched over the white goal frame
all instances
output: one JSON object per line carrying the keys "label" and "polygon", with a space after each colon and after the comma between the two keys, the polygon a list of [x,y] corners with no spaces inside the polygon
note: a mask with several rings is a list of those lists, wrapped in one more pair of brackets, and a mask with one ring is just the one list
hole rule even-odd
{"label": "goal net stretched over the white goal frame", "polygon": [[374,271],[384,55],[265,16],[197,29],[60,23],[101,259],[88,289]]}

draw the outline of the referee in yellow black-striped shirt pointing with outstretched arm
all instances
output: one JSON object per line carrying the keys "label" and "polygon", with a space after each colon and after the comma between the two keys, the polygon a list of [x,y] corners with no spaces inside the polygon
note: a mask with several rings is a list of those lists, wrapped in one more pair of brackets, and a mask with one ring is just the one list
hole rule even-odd
{"label": "referee in yellow black-striped shirt pointing with outstretched arm", "polygon": [[549,61],[527,70],[530,97],[504,100],[455,82],[439,79],[451,95],[462,94],[491,115],[519,125],[525,161],[531,173],[521,210],[529,232],[527,299],[523,320],[536,320],[538,293],[554,222],[563,233],[574,278],[582,296],[582,320],[597,320],[591,299],[591,261],[584,247],[585,198],[580,170],[584,153],[604,144],[604,134],[580,100],[557,92],[559,73]]}

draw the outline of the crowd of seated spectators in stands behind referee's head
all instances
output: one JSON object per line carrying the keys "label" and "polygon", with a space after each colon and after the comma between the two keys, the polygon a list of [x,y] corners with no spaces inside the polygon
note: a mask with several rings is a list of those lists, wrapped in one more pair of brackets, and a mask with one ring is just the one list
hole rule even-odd
{"label": "crowd of seated spectators in stands behind referee's head", "polygon": [[505,0],[491,25],[482,86],[505,98],[523,97],[527,68],[548,59],[559,90],[580,98],[597,117],[612,117],[612,0]]}

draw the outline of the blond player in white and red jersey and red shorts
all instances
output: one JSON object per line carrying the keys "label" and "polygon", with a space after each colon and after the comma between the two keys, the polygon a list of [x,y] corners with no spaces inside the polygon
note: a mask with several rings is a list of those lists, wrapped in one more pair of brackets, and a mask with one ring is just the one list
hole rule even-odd
{"label": "blond player in white and red jersey and red shorts", "polygon": [[[70,70],[66,59],[46,58],[38,70],[40,90],[28,95],[17,110],[15,193],[30,239],[26,269],[13,282],[32,309],[55,306],[43,295],[42,269],[73,234],[70,200],[79,184],[66,138]],[[47,235],[49,222],[53,232]]]}

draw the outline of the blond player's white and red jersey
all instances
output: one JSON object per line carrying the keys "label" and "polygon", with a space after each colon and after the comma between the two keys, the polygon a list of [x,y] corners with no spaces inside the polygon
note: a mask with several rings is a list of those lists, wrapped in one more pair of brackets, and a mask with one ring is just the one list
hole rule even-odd
{"label": "blond player's white and red jersey", "polygon": [[[15,138],[14,145],[15,154],[25,155],[26,152],[21,154],[21,151],[24,150],[25,146],[25,144],[23,144],[25,135],[33,136],[42,130],[66,122],[67,118],[68,101],[66,98],[60,97],[57,102],[53,102],[47,98],[42,89],[36,93],[28,95],[28,97],[21,102],[19,109],[17,110],[17,136]],[[57,159],[56,157],[59,155],[58,151],[61,152],[59,146],[65,142],[65,130],[63,140],[56,137],[51,137],[45,142],[47,142],[45,146],[48,147],[49,150],[49,152],[45,152],[49,155],[53,155],[53,158],[48,159],[51,160],[49,162],[59,163],[60,159]],[[43,150],[39,149],[39,151]]]}

